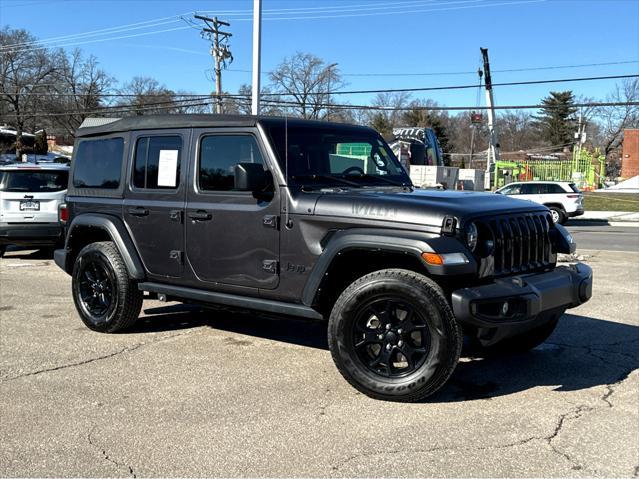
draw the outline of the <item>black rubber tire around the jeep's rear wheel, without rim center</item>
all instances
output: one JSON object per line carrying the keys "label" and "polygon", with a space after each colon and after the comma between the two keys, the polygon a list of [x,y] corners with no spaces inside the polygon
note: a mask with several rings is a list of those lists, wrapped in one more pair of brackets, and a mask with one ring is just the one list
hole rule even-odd
{"label": "black rubber tire around the jeep's rear wheel, without rim center", "polygon": [[[86,283],[85,269],[90,262],[104,267],[112,285],[112,301],[104,314],[92,314],[81,296]],[[84,282],[83,282],[84,281]],[[78,254],[72,273],[72,292],[75,307],[82,322],[93,331],[118,333],[133,326],[142,309],[143,293],[127,272],[122,256],[111,241],[85,246]]]}

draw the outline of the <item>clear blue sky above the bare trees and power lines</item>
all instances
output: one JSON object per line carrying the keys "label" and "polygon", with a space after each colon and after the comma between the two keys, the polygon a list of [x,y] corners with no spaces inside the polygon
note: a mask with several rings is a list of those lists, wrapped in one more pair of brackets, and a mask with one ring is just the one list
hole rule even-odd
{"label": "clear blue sky above the bare trees and power lines", "polygon": [[[252,0],[0,0],[0,23],[41,40],[87,33],[48,44],[95,55],[120,82],[152,76],[174,90],[206,93],[213,88],[207,42],[177,15],[218,14],[231,23],[235,61],[223,85],[235,92],[251,81],[252,5]],[[450,72],[476,71],[479,47],[489,49],[494,82],[639,73],[639,0],[263,0],[263,9],[263,71],[296,51],[310,52],[339,64],[346,90],[473,84],[476,74]],[[88,34],[101,29],[113,30]],[[170,31],[151,33],[159,30]],[[499,71],[629,61],[635,63]],[[428,75],[358,76],[401,73]],[[500,87],[495,97],[502,105],[536,104],[550,90],[572,89],[603,99],[614,84]],[[449,106],[477,102],[474,89],[414,96]],[[371,95],[345,99],[366,104]]]}

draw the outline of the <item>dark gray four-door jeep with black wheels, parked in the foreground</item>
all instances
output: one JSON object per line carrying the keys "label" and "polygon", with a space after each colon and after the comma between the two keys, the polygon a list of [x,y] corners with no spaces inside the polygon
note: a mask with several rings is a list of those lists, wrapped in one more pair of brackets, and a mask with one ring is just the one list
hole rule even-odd
{"label": "dark gray four-door jeep with black wheels, parked in the foreground", "polygon": [[[93,126],[92,126],[93,125]],[[548,209],[413,187],[370,128],[171,115],[79,129],[64,249],[82,321],[115,333],[143,292],[162,300],[328,319],[337,368],[381,399],[415,401],[486,352],[543,342],[592,294]]]}

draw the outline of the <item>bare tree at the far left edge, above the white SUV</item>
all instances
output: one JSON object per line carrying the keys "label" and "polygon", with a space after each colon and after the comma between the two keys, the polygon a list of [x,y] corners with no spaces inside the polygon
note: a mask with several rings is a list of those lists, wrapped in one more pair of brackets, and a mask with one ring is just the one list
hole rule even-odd
{"label": "bare tree at the far left edge, above the white SUV", "polygon": [[22,134],[34,124],[42,95],[55,81],[63,53],[33,48],[35,37],[26,30],[0,30],[0,102],[3,116],[16,129],[16,154],[23,151]]}

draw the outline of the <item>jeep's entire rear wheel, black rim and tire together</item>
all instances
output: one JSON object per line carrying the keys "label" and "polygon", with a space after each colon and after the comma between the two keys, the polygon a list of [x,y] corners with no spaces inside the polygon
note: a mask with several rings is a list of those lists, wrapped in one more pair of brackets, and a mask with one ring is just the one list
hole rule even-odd
{"label": "jeep's entire rear wheel, black rim and tire together", "polygon": [[115,245],[110,241],[85,246],[72,274],[73,301],[84,324],[102,333],[131,327],[142,308],[142,291],[129,278]]}

